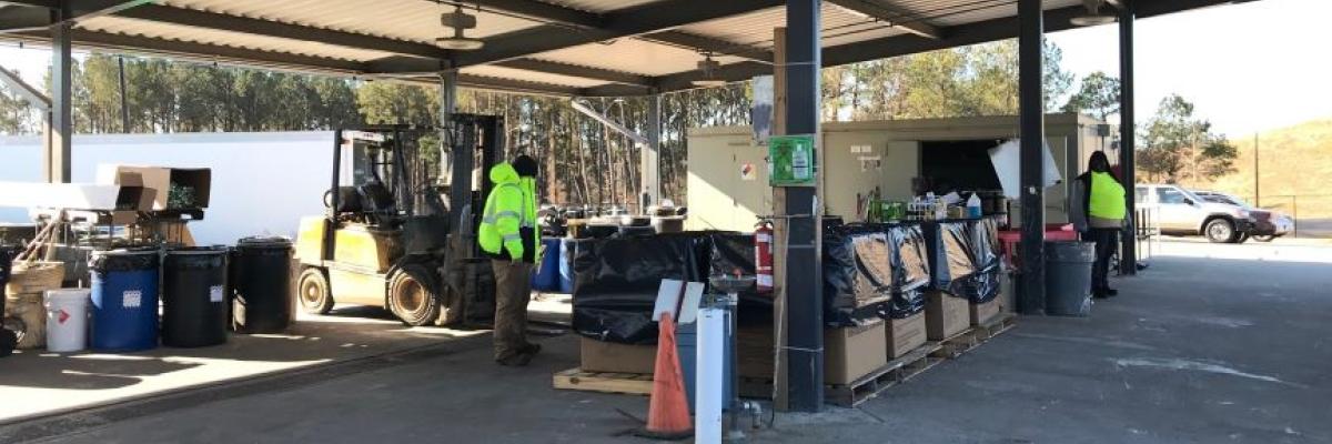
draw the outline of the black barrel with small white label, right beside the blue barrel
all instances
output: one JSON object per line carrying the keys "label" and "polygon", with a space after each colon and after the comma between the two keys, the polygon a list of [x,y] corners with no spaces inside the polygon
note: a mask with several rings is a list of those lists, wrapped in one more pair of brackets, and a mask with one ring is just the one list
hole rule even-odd
{"label": "black barrel with small white label, right beside the blue barrel", "polygon": [[163,260],[163,345],[226,343],[226,248],[166,251]]}

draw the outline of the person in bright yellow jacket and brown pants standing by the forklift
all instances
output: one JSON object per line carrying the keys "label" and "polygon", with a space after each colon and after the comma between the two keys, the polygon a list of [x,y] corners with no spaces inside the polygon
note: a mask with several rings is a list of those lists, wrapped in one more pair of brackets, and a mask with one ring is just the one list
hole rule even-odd
{"label": "person in bright yellow jacket and brown pants standing by the forklift", "polygon": [[541,252],[537,225],[537,161],[521,155],[490,168],[494,188],[486,196],[477,241],[496,272],[494,359],[522,367],[541,345],[527,341],[531,268]]}

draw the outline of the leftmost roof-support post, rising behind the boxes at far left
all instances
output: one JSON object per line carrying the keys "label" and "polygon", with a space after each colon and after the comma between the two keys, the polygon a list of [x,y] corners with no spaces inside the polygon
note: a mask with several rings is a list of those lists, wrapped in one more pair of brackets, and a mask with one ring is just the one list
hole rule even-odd
{"label": "leftmost roof-support post, rising behind the boxes at far left", "polygon": [[73,69],[69,49],[73,23],[69,3],[60,1],[60,8],[51,11],[51,127],[45,137],[41,163],[47,183],[71,181],[71,141],[73,136],[73,115],[71,112],[71,72]]}

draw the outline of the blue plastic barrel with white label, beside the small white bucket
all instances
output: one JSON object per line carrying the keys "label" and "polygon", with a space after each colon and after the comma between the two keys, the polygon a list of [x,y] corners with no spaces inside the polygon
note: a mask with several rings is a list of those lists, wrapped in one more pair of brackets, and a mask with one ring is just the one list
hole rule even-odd
{"label": "blue plastic barrel with white label, beside the small white bucket", "polygon": [[116,249],[92,256],[92,348],[141,351],[157,347],[156,249]]}

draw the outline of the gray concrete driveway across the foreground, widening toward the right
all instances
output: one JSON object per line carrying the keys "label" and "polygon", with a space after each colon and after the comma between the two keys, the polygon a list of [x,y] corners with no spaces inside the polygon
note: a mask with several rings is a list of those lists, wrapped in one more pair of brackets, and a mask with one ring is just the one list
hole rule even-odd
{"label": "gray concrete driveway across the foreground, widening toward the right", "polygon": [[[860,408],[781,415],[753,441],[1332,441],[1332,248],[1166,243],[1116,285],[1090,319],[1023,317]],[[642,415],[647,400],[551,389],[577,347],[543,344],[526,369],[490,364],[482,336],[0,427],[0,441],[633,441],[617,408]]]}

